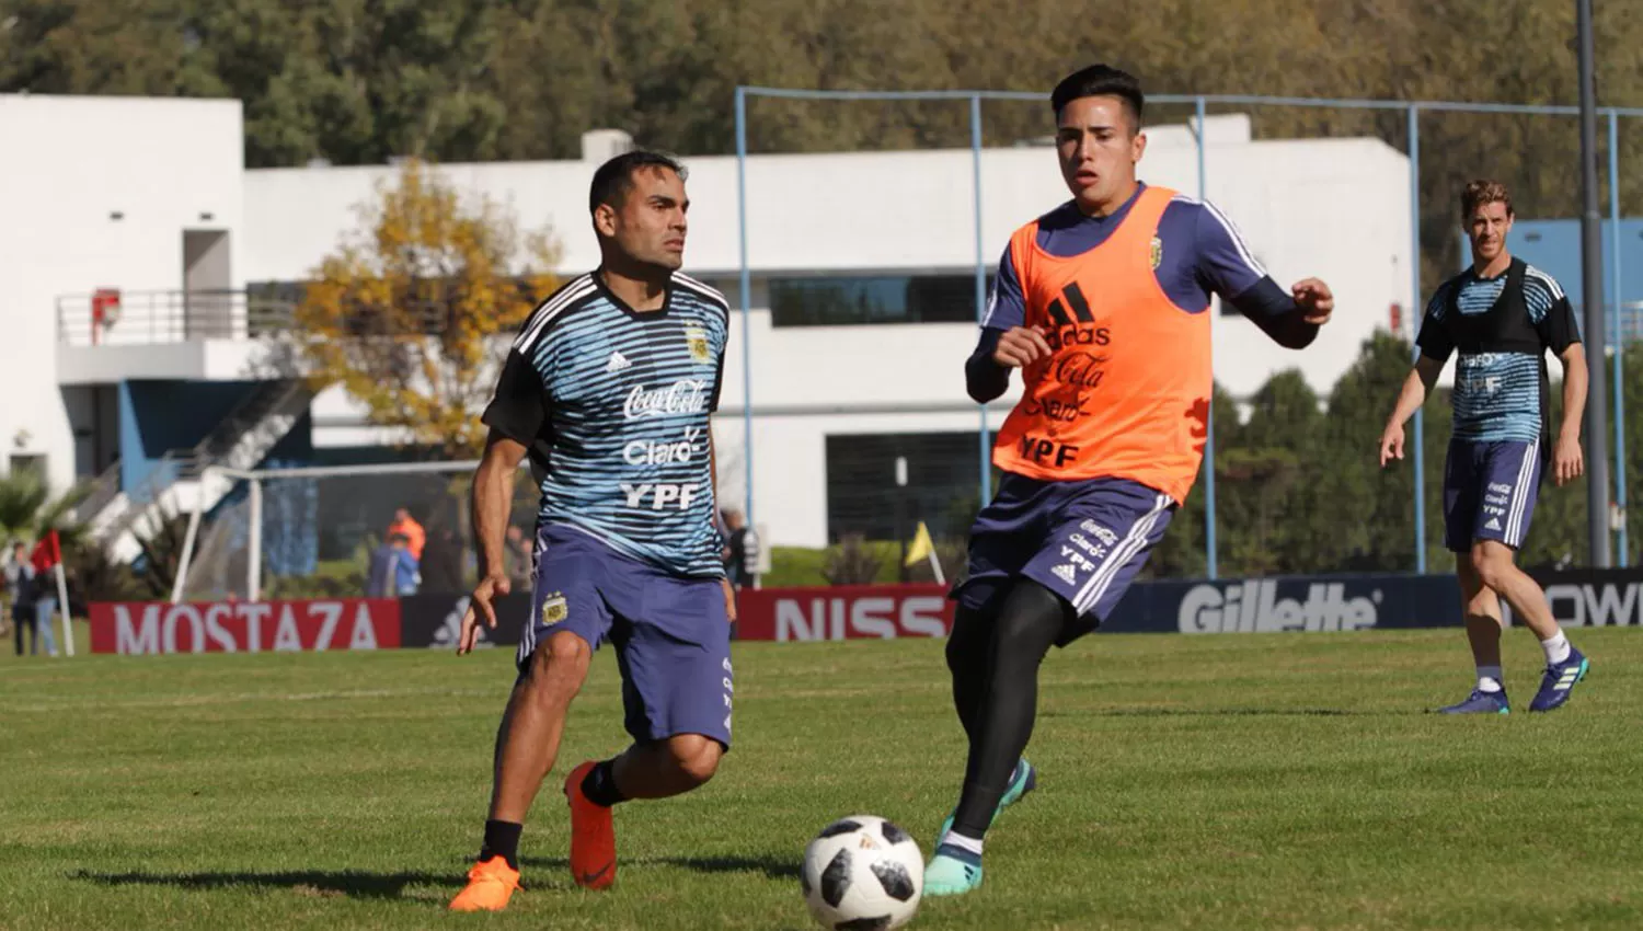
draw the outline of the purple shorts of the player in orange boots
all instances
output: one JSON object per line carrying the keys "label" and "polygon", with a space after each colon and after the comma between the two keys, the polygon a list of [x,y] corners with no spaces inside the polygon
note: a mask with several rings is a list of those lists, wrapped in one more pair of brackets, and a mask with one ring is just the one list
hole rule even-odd
{"label": "purple shorts of the player in orange boots", "polygon": [[536,535],[521,675],[536,647],[560,631],[595,650],[614,644],[634,741],[702,734],[729,749],[734,686],[720,580],[667,575],[583,530],[547,524]]}

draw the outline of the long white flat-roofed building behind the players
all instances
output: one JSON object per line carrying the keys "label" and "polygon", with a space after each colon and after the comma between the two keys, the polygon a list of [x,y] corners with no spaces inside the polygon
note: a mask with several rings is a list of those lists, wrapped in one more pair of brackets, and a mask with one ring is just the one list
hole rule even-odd
{"label": "long white flat-roofed building behind the players", "polygon": [[[1191,130],[1148,135],[1142,177],[1198,194]],[[619,140],[590,133],[580,161],[442,171],[460,189],[506,204],[522,227],[549,227],[560,271],[575,274],[598,263],[588,181]],[[246,171],[242,153],[242,108],[232,100],[0,95],[0,443],[8,453],[0,468],[43,466],[59,486],[102,475],[97,504],[107,504],[120,483],[130,491],[140,481],[187,479],[191,458],[164,455],[177,448],[256,465],[304,415],[314,450],[386,438],[338,389],[311,399],[258,386],[255,296],[306,279],[396,169]],[[1319,276],[1337,296],[1336,320],[1301,353],[1275,346],[1242,317],[1216,314],[1216,378],[1245,396],[1272,373],[1298,368],[1328,392],[1364,338],[1388,325],[1392,307],[1411,304],[1406,158],[1367,138],[1252,141],[1247,118],[1222,117],[1209,122],[1206,164],[1208,197],[1273,277]],[[828,542],[830,470],[838,481],[858,468],[891,484],[881,460],[894,443],[835,440],[830,452],[828,437],[945,435],[948,450],[968,450],[968,465],[941,468],[979,478],[979,412],[963,384],[976,338],[971,151],[749,158],[748,314],[736,287],[738,161],[705,156],[687,166],[687,271],[723,287],[733,307],[715,427],[726,501],[746,493],[744,384],[752,501],[767,543]],[[991,273],[1010,232],[1063,202],[1066,189],[1043,146],[986,149],[979,176],[979,246]],[[99,289],[120,294],[112,325],[94,327]],[[887,294],[887,317],[798,325],[790,305],[817,289],[835,299]],[[991,425],[1017,389],[992,407]],[[156,407],[181,420],[154,427],[159,415],[145,409]],[[910,453],[918,486],[925,460],[938,453],[909,442],[918,447]],[[833,501],[835,516],[840,506]],[[927,519],[938,504],[925,498],[914,507]]]}

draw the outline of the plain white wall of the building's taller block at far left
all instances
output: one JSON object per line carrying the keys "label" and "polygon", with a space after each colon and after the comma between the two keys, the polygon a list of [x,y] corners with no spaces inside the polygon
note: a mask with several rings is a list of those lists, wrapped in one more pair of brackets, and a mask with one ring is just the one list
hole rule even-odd
{"label": "plain white wall of the building's taller block at far left", "polygon": [[0,447],[74,478],[56,300],[181,289],[182,233],[227,230],[243,281],[238,100],[0,95]]}

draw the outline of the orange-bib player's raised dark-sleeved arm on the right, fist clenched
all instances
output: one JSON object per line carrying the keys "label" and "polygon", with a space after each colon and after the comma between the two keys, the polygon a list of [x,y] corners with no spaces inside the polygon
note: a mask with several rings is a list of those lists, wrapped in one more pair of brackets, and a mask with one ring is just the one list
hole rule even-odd
{"label": "orange-bib player's raised dark-sleeved arm on the right, fist clenched", "polygon": [[1193,225],[1198,276],[1239,314],[1254,320],[1272,342],[1305,350],[1318,338],[1318,327],[1334,312],[1334,294],[1316,277],[1295,282],[1288,291],[1267,274],[1237,227],[1211,204],[1198,204]]}

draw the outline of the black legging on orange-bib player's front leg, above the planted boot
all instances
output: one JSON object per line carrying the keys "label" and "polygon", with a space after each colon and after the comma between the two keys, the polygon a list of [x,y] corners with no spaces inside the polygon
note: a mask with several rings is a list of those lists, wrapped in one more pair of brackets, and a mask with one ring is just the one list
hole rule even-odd
{"label": "black legging on orange-bib player's front leg, above the planted boot", "polygon": [[992,824],[1038,711],[1038,663],[1060,637],[1071,608],[1035,581],[1019,581],[992,629],[981,708],[969,739],[964,793],[953,831],[981,839]]}

